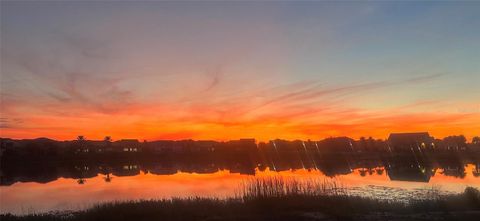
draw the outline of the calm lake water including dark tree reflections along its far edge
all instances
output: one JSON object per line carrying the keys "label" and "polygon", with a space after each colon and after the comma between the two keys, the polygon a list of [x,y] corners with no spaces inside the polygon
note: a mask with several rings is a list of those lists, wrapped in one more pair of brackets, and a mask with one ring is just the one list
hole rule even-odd
{"label": "calm lake water including dark tree reflections along its far edge", "polygon": [[421,197],[422,193],[431,188],[440,189],[443,193],[462,192],[467,186],[480,188],[478,176],[480,164],[476,162],[460,166],[419,167],[419,170],[411,170],[411,165],[392,169],[393,167],[387,164],[378,166],[371,163],[372,166],[369,167],[351,167],[347,172],[340,169],[341,172],[334,174],[320,165],[312,168],[306,168],[305,165],[303,168],[284,168],[281,171],[260,166],[249,172],[222,168],[197,169],[197,172],[183,168],[182,172],[182,168],[166,169],[164,165],[149,167],[125,164],[118,166],[117,169],[110,167],[110,170],[113,170],[111,173],[98,172],[105,170],[102,166],[84,165],[72,169],[84,171],[77,173],[76,177],[57,169],[54,175],[38,171],[18,172],[13,178],[11,171],[4,170],[0,187],[0,212],[25,214],[51,210],[78,210],[95,203],[115,200],[189,196],[228,197],[238,192],[243,181],[252,177],[268,176],[335,181],[348,188],[350,194],[383,199]]}

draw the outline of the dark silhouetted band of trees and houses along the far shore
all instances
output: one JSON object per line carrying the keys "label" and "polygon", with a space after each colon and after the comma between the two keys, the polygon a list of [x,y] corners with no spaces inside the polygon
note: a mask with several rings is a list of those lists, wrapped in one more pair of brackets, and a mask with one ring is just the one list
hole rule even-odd
{"label": "dark silhouetted band of trees and houses along the far shore", "polygon": [[72,159],[132,157],[151,155],[229,155],[272,157],[282,155],[315,154],[386,154],[402,152],[441,153],[441,152],[480,152],[480,138],[474,137],[470,143],[463,135],[434,139],[428,133],[397,134],[387,140],[361,137],[354,140],[348,137],[326,138],[320,141],[272,140],[259,142],[254,139],[240,139],[227,142],[211,140],[160,140],[140,142],[135,139],[113,141],[111,137],[103,140],[87,140],[83,136],[71,141],[55,141],[48,138],[14,140],[0,138],[0,156],[23,159]]}

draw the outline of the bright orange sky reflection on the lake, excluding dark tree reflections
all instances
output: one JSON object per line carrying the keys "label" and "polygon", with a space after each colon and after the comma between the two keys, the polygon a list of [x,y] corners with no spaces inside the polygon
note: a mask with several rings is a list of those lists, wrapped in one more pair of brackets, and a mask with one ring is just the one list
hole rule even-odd
{"label": "bright orange sky reflection on the lake, excluding dark tree reflections", "polygon": [[[381,198],[402,198],[419,195],[431,188],[444,192],[461,192],[466,186],[480,187],[480,177],[475,177],[475,166],[465,167],[466,175],[448,176],[442,169],[435,171],[428,183],[391,181],[383,168],[370,171],[355,169],[347,175],[333,178],[325,176],[318,170],[287,170],[281,172],[256,170],[256,176],[282,176],[286,178],[320,179],[335,181],[350,188],[351,194],[362,194]],[[383,172],[382,172],[383,171]],[[82,185],[76,179],[59,178],[40,184],[35,182],[15,183],[0,187],[1,212],[29,213],[47,210],[81,209],[98,202],[129,199],[157,199],[170,197],[233,196],[240,183],[250,175],[230,173],[222,170],[210,174],[178,172],[173,175],[154,175],[140,173],[135,176],[110,176],[99,174],[87,178]]]}

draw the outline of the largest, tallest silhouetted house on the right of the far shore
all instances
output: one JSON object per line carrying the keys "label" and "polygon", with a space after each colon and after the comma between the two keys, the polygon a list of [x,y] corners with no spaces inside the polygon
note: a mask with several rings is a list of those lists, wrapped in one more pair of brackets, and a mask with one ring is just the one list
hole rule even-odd
{"label": "largest, tallest silhouetted house on the right of the far shore", "polygon": [[421,133],[392,133],[388,137],[387,145],[390,151],[424,151],[435,148],[433,137],[427,132]]}

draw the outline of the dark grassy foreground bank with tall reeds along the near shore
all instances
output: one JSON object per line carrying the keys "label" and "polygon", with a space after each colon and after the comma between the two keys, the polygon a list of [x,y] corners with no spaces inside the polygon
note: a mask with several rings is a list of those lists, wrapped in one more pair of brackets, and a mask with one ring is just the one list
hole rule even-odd
{"label": "dark grassy foreground bank with tall reeds along the near shore", "polygon": [[428,199],[382,201],[351,196],[335,183],[252,179],[236,197],[112,202],[76,212],[15,216],[7,220],[479,220],[480,191],[431,192]]}

